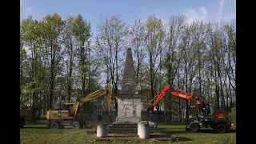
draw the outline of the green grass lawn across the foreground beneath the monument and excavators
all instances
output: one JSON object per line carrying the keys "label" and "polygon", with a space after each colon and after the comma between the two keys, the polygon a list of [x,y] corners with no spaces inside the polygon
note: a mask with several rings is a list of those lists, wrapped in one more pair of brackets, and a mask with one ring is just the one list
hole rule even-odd
{"label": "green grass lawn across the foreground beneath the monument and excavators", "polygon": [[[150,139],[140,139],[137,134],[108,134],[107,138],[97,138],[96,134],[86,134],[92,129],[73,130],[66,126],[62,130],[46,129],[44,123],[36,125],[25,125],[20,130],[21,143],[170,143],[170,138],[174,138],[172,143],[236,143],[236,133],[218,134],[213,130],[204,129],[198,133],[187,132],[185,125],[159,124],[158,129],[162,134],[151,134]],[[160,137],[162,140],[160,141]],[[166,137],[163,138],[163,137]],[[169,140],[167,139],[169,138]]]}

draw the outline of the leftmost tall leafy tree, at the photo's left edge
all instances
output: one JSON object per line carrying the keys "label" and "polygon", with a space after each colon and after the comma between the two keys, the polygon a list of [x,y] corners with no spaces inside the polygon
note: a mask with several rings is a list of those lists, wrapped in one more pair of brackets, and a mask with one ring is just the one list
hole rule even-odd
{"label": "leftmost tall leafy tree, at the photo's left edge", "polygon": [[[36,121],[36,114],[40,108],[40,90],[42,88],[43,72],[42,67],[42,23],[38,20],[33,20],[32,16],[22,20],[21,23],[21,40],[22,45],[27,46],[30,50],[30,55],[26,58],[24,49],[21,49],[21,60],[25,66],[22,66],[23,70],[26,70],[26,78],[22,77],[22,87],[29,98],[29,103],[32,111],[32,122]],[[25,62],[25,63],[24,63]],[[26,82],[26,84],[24,83]]]}

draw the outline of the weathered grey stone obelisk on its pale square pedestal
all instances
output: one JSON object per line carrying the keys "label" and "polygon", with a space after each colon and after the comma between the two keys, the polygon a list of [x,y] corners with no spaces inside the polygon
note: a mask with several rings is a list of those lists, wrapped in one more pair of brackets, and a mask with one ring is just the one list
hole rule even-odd
{"label": "weathered grey stone obelisk on its pale square pedestal", "polygon": [[142,120],[142,95],[138,94],[130,48],[127,49],[126,53],[121,93],[116,98],[118,99],[116,123],[138,123]]}

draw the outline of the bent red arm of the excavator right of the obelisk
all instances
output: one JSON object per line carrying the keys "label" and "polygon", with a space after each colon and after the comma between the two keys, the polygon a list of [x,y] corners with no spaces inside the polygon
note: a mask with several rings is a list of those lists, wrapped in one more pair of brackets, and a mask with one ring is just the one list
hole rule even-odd
{"label": "bent red arm of the excavator right of the obelisk", "polygon": [[158,102],[160,102],[160,100],[164,96],[166,96],[166,93],[173,94],[174,96],[177,96],[179,98],[185,98],[190,101],[194,101],[197,104],[205,104],[206,103],[204,99],[198,98],[192,94],[188,94],[183,90],[179,90],[178,88],[176,88],[175,90],[170,90],[170,85],[167,85],[164,89],[160,90],[160,92],[156,96],[154,96],[154,98],[147,104],[147,107],[150,108],[151,106],[155,106]]}

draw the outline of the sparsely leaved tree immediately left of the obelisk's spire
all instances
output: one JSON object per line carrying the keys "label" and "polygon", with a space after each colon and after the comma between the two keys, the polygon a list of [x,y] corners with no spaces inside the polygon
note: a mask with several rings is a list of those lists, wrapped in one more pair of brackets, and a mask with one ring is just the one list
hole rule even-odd
{"label": "sparsely leaved tree immediately left of the obelisk's spire", "polygon": [[[118,86],[120,86],[120,77],[123,58],[120,57],[123,49],[126,47],[126,36],[128,29],[126,22],[118,16],[112,16],[105,20],[101,18],[101,23],[97,27],[97,46],[98,55],[102,57],[102,66],[105,67],[107,85],[111,82],[114,95],[118,94]],[[116,105],[117,102],[116,102]],[[116,107],[117,110],[117,107]]]}

